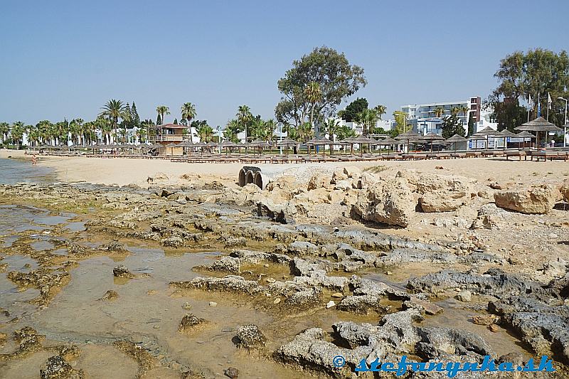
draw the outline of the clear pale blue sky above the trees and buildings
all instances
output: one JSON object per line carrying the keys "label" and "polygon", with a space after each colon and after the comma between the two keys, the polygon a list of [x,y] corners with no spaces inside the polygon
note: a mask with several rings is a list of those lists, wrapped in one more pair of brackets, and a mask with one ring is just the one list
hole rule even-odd
{"label": "clear pale blue sky above the trees and buildings", "polygon": [[[568,0],[26,1],[0,3],[0,121],[95,119],[109,99],[142,119],[274,117],[277,80],[315,46],[365,70],[371,106],[483,98],[514,50],[569,49]],[[342,105],[345,106],[345,105]],[[385,116],[384,116],[385,118]]]}

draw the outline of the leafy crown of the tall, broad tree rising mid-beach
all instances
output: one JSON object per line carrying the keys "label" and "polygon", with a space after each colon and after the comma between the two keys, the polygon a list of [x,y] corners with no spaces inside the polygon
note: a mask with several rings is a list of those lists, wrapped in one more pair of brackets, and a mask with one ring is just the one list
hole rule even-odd
{"label": "leafy crown of the tall, broad tree rising mid-beach", "polygon": [[[299,126],[309,113],[313,114],[312,119],[331,116],[342,100],[366,85],[363,68],[350,65],[343,53],[325,46],[314,48],[292,65],[277,83],[282,98],[275,107],[275,115],[280,122],[292,121]],[[321,90],[315,102],[309,100],[305,91],[312,82]]]}

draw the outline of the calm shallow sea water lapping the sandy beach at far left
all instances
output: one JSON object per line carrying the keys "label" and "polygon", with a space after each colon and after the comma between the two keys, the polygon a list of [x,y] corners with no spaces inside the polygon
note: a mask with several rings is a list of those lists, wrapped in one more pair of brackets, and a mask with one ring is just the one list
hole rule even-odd
{"label": "calm shallow sea water lapping the sandy beach at far left", "polygon": [[30,160],[0,158],[0,184],[20,182],[45,183],[53,181],[52,170],[32,166]]}

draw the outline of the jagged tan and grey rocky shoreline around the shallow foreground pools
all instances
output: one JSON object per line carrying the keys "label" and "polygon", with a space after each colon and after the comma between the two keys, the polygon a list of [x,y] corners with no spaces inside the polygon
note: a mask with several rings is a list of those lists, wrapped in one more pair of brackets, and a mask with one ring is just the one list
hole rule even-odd
{"label": "jagged tan and grey rocky shoreline around the shallow foreground pools", "polygon": [[[270,315],[277,320],[273,324],[288,316],[307,326],[298,333],[292,328],[285,341],[281,336],[278,342],[275,336],[280,335],[272,324],[236,329],[229,340],[238,349],[254,351],[261,361],[292,372],[351,378],[361,358],[396,362],[405,354],[416,361],[447,362],[481,361],[490,355],[525,362],[531,356],[549,355],[558,372],[533,377],[563,378],[569,366],[568,196],[567,181],[523,188],[412,171],[383,176],[381,171],[353,167],[336,169],[331,176],[317,173],[307,182],[281,176],[265,191],[199,177],[178,187],[158,179],[148,189],[21,183],[0,186],[1,203],[85,215],[85,233],[106,242],[86,243],[80,235],[70,236],[55,226],[44,235],[53,248],[34,249],[33,231],[23,231],[3,248],[2,258],[18,255],[36,262],[37,267],[25,271],[8,266],[4,271],[21,290],[37,290],[30,302],[41,312],[65,293],[70,275],[83,262],[95,257],[123,260],[132,255],[129,242],[161,246],[171,254],[220,252],[214,260],[188,267],[188,279],[165,281],[164,292],[190,301],[211,295],[210,308],[218,299],[230,299],[231,304]],[[414,237],[405,234],[410,230]],[[429,234],[421,235],[427,230]],[[536,231],[513,240],[525,230]],[[519,255],[503,242],[533,244],[540,250],[544,233],[555,245],[548,252],[541,249],[541,255]],[[54,253],[58,249],[66,254]],[[133,272],[134,268],[117,264],[110,275],[125,282],[153,275]],[[99,297],[119,304],[123,296],[117,291]],[[472,330],[428,326],[445,314],[447,301],[464,309],[464,319],[473,327],[510,334],[525,348],[520,351],[512,343],[504,350],[506,343],[498,354],[491,342]],[[220,328],[191,308],[188,302],[185,315],[169,325],[175,333],[196,338]],[[14,329],[14,338],[21,340],[22,328],[31,328],[26,325],[29,316],[4,311],[12,318],[6,321],[6,331]],[[314,314],[331,322],[311,325]],[[48,332],[36,330],[26,333]],[[4,340],[8,338],[4,334]],[[130,351],[127,355],[137,362],[139,378],[172,366],[184,378],[213,375],[211,368],[191,360],[166,359],[176,354],[164,355],[167,348],[158,342],[154,348],[124,338],[113,343]],[[39,341],[31,350],[26,346],[2,354],[0,367],[21,358],[19,352],[45,349]],[[80,351],[76,345],[74,349]],[[332,361],[337,355],[346,358],[341,370]],[[71,365],[74,356],[59,352],[50,357],[42,378],[82,377],[84,373]],[[225,375],[238,375],[239,369],[226,367]],[[64,374],[53,376],[52,371]]]}

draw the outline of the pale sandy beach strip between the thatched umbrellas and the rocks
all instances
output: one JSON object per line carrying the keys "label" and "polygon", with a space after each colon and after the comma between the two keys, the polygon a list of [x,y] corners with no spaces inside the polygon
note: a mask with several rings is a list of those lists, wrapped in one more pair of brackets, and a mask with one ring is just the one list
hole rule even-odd
{"label": "pale sandy beach strip between the thatched umbrellas and the rocks", "polygon": [[[27,157],[23,151],[0,150],[0,158],[12,156]],[[148,186],[147,178],[164,174],[171,183],[180,180],[184,174],[195,174],[203,178],[217,178],[223,181],[236,181],[242,164],[187,164],[161,159],[95,159],[78,157],[40,156],[38,166],[49,167],[55,171],[59,181],[85,181],[88,183],[115,184],[126,186],[137,184]],[[271,165],[258,165],[271,166]],[[428,161],[378,161],[325,164],[283,164],[272,165],[282,169],[310,167],[324,168],[356,166],[369,169],[381,166],[379,170],[386,176],[401,170],[418,170],[429,174],[459,175],[478,181],[511,181],[518,184],[560,183],[569,177],[569,164],[565,161],[506,161],[503,158],[445,159]]]}

